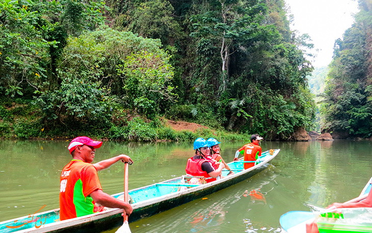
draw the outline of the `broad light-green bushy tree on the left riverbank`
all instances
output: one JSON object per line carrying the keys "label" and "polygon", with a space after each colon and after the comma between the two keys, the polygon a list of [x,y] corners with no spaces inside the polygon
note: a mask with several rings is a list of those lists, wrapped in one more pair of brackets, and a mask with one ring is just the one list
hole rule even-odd
{"label": "broad light-green bushy tree on the left riverbank", "polygon": [[59,62],[61,88],[38,98],[49,118],[107,119],[110,108],[137,109],[153,117],[173,101],[169,56],[159,40],[101,28],[68,39]]}

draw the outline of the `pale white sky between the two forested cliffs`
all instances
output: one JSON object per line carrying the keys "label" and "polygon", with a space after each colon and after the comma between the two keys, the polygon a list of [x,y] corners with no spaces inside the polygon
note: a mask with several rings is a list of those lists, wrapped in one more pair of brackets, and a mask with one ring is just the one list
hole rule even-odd
{"label": "pale white sky between the two forested cliffs", "polygon": [[316,54],[312,65],[327,66],[332,61],[333,45],[337,38],[354,23],[358,2],[353,0],[284,0],[294,15],[292,30],[309,34]]}

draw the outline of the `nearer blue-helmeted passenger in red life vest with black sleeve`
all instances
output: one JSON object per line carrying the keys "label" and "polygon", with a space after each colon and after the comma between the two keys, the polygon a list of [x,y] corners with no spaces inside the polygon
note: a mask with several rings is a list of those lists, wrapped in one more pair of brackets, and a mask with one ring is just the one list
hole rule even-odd
{"label": "nearer blue-helmeted passenger in red life vest with black sleeve", "polygon": [[197,138],[194,141],[194,157],[188,159],[186,174],[192,176],[204,176],[206,183],[212,182],[221,177],[221,171],[225,168],[223,163],[208,158],[210,149],[204,138]]}

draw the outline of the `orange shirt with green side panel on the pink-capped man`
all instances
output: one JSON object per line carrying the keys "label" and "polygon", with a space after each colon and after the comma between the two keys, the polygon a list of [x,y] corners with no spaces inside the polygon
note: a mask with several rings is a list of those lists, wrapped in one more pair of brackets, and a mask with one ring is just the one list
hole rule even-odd
{"label": "orange shirt with green side panel on the pink-capped man", "polygon": [[102,187],[93,164],[71,160],[63,168],[60,181],[61,221],[94,213],[94,201],[89,195]]}

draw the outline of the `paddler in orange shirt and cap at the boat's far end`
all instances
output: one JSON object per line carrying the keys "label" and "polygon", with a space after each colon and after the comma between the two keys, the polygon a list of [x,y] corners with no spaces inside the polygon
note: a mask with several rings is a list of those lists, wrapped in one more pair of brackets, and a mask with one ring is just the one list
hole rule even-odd
{"label": "paddler in orange shirt and cap at the boat's far end", "polygon": [[261,156],[262,148],[259,146],[260,140],[262,138],[258,134],[253,134],[251,136],[251,143],[242,146],[240,149],[236,150],[235,158],[233,161],[237,161],[238,157],[242,154],[244,155],[244,169],[248,169],[254,166],[254,162]]}

